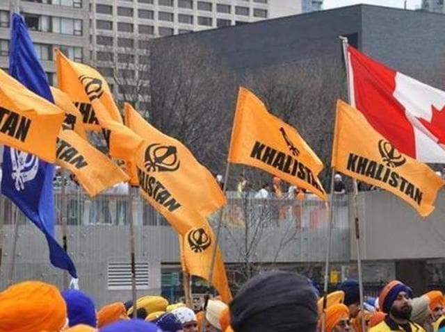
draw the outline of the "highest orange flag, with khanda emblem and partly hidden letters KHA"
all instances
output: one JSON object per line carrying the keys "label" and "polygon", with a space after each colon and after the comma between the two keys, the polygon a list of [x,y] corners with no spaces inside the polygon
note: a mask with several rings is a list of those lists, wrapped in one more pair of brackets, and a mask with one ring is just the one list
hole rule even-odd
{"label": "highest orange flag, with khanda emblem and partly hidden letters KHA", "polygon": [[86,129],[101,129],[97,117],[97,105],[102,105],[108,117],[122,123],[111,90],[104,77],[96,69],[71,61],[56,49],[57,81],[60,90],[68,94],[83,115]]}

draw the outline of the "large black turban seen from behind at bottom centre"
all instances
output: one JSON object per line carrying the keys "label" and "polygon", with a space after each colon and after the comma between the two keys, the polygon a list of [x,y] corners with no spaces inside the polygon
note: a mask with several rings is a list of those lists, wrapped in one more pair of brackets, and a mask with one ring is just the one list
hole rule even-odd
{"label": "large black turban seen from behind at bottom centre", "polygon": [[305,276],[280,271],[259,274],[229,304],[231,326],[235,332],[314,332],[316,301]]}

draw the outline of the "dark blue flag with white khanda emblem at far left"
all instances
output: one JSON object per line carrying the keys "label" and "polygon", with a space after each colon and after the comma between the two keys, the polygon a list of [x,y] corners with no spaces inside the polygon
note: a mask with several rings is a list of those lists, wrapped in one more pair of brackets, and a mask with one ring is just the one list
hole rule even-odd
{"label": "dark blue flag with white khanda emblem at far left", "polygon": [[[29,90],[54,103],[47,75],[39,63],[19,14],[13,14],[9,74]],[[74,263],[54,238],[54,166],[30,153],[10,147],[3,149],[1,192],[11,199],[47,238],[52,265],[66,269],[77,279]]]}

